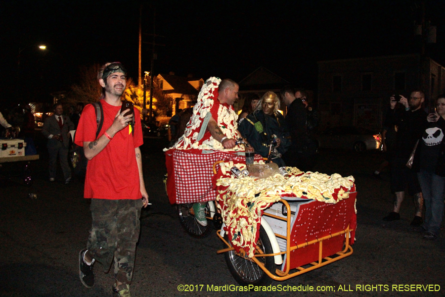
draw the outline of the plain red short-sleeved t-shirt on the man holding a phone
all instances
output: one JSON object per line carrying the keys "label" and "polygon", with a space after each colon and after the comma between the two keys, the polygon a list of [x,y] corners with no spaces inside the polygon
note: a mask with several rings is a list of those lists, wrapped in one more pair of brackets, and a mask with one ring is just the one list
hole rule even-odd
{"label": "plain red short-sleeved t-shirt on the man holding a phone", "polygon": [[[113,106],[101,99],[103,107],[103,125],[99,136],[113,124],[121,106]],[[139,171],[134,148],[143,144],[140,115],[134,108],[134,135],[130,125],[113,137],[108,145],[88,162],[85,178],[85,198],[99,199],[140,199]],[[84,146],[84,142],[96,139],[96,114],[94,106],[89,104],[82,111],[77,126],[74,143]]]}

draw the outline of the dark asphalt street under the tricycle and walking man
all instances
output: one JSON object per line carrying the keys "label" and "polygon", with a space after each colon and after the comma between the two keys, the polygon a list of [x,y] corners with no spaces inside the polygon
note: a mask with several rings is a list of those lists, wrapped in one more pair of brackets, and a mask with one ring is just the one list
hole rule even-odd
{"label": "dark asphalt street under the tricycle and walking man", "polygon": [[[160,139],[144,139],[144,177],[150,208],[141,215],[141,235],[136,253],[133,296],[289,296],[288,292],[208,292],[207,285],[237,285],[231,277],[215,234],[193,239],[178,222],[162,182],[166,172]],[[42,150],[42,148],[40,148]],[[335,292],[296,292],[298,296],[445,296],[445,232],[436,241],[424,241],[409,228],[414,216],[412,198],[401,209],[401,220],[384,222],[392,210],[389,172],[381,180],[371,173],[382,161],[376,152],[325,150],[319,172],[353,175],[357,188],[357,222],[354,254],[312,272],[272,286],[332,286]],[[90,228],[89,199],[83,198],[83,182],[69,185],[47,180],[47,157],[33,163],[35,181],[23,186],[12,177],[1,180],[0,198],[0,296],[2,297],[103,297],[111,296],[112,273],[95,266],[96,285],[82,286],[78,253],[86,246]],[[19,173],[19,164],[3,164],[1,173]],[[37,194],[36,199],[28,198]],[[178,285],[195,286],[195,292],[179,292]],[[357,285],[374,285],[357,292]],[[388,285],[378,287],[377,285]],[[394,285],[439,285],[438,292],[397,292]],[[343,290],[352,291],[341,291]],[[368,287],[366,287],[368,288]],[[380,290],[378,289],[380,288]],[[385,288],[389,290],[385,291]],[[412,289],[415,287],[397,287]],[[438,286],[432,287],[438,289]],[[196,292],[198,289],[198,292]],[[372,287],[369,287],[371,290]]]}

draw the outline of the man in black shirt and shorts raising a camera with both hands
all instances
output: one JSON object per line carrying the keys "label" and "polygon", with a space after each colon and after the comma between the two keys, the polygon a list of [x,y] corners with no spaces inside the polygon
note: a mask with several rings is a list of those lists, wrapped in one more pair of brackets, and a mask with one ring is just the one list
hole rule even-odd
{"label": "man in black shirt and shorts raising a camera with both hands", "polygon": [[391,191],[396,194],[396,199],[393,211],[383,218],[384,221],[400,220],[401,202],[405,197],[405,189],[408,187],[408,193],[413,196],[416,206],[416,214],[411,222],[413,227],[418,227],[423,223],[423,196],[416,173],[406,167],[406,163],[417,140],[426,129],[427,113],[422,109],[424,100],[425,94],[422,91],[413,91],[409,99],[400,95],[399,101],[405,110],[394,119],[393,124],[397,126],[397,134],[391,152]]}

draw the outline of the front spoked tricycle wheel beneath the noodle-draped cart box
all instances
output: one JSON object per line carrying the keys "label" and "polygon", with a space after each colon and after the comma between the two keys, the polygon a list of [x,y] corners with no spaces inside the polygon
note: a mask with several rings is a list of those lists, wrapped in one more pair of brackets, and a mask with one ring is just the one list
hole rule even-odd
{"label": "front spoked tricycle wheel beneath the noodle-draped cart box", "polygon": [[[227,234],[224,239],[228,242]],[[224,247],[227,247],[224,244]],[[260,227],[260,237],[257,242],[257,249],[255,256],[262,262],[265,268],[274,272],[275,262],[272,256],[261,257],[261,254],[273,253],[272,245],[270,244],[267,233],[263,226]],[[246,256],[241,256],[235,250],[231,250],[224,253],[225,262],[232,274],[233,278],[242,286],[254,285],[254,286],[267,286],[270,285],[272,279],[257,265],[253,260]]]}

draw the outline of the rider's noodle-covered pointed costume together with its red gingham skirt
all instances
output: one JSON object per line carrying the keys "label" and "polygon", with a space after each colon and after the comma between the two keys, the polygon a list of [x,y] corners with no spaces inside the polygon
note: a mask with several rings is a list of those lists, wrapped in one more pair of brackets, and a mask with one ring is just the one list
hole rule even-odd
{"label": "rider's noodle-covered pointed costume together with its red gingham skirt", "polygon": [[[195,203],[215,200],[212,166],[219,160],[245,162],[244,147],[225,149],[212,137],[207,124],[213,117],[224,136],[238,137],[238,115],[233,106],[218,100],[218,86],[221,79],[209,78],[198,95],[193,107],[193,115],[185,128],[185,133],[172,148],[166,148],[167,194],[172,204]],[[257,156],[257,158],[261,158]]]}

